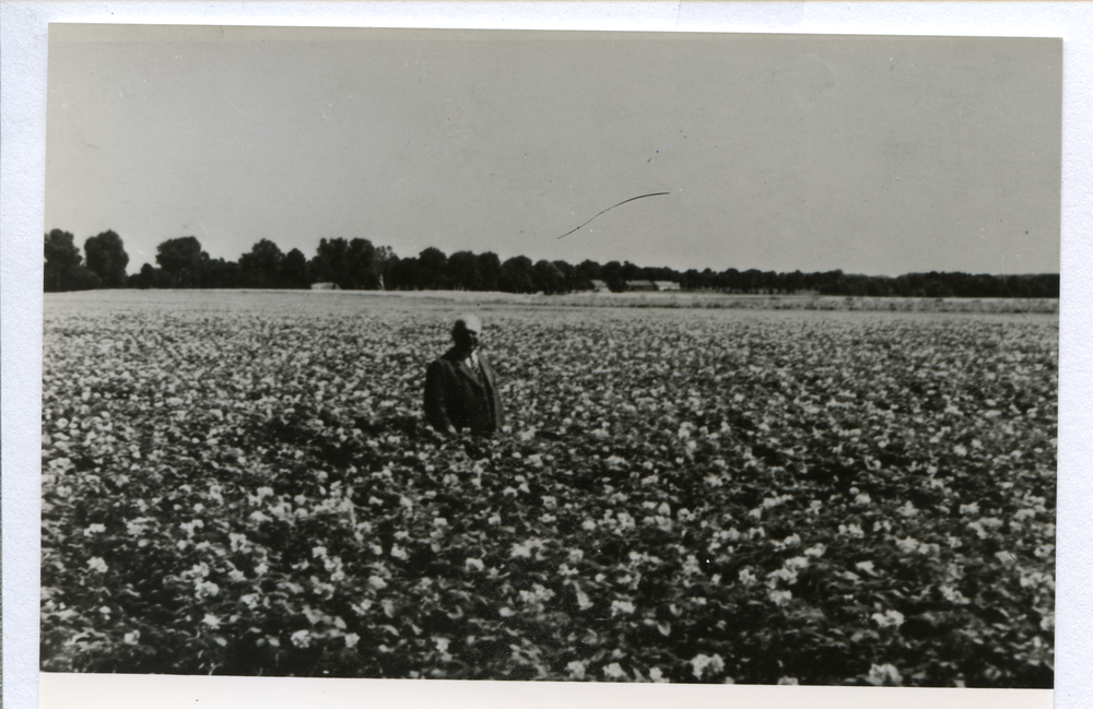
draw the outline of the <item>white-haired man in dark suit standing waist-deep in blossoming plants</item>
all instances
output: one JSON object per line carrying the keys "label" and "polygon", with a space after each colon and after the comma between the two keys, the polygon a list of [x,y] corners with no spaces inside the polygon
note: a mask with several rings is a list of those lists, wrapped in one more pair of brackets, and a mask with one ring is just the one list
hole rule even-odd
{"label": "white-haired man in dark suit standing waist-deep in blossoming plants", "polygon": [[481,333],[477,316],[459,316],[451,328],[454,346],[428,365],[425,420],[437,433],[490,435],[504,423],[497,377],[479,347]]}

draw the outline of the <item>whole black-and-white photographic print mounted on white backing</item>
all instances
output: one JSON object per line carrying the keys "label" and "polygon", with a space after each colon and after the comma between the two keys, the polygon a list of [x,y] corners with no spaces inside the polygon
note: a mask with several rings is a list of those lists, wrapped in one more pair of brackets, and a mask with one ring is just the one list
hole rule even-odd
{"label": "whole black-and-white photographic print mounted on white backing", "polygon": [[40,671],[1053,688],[1062,48],[51,25]]}

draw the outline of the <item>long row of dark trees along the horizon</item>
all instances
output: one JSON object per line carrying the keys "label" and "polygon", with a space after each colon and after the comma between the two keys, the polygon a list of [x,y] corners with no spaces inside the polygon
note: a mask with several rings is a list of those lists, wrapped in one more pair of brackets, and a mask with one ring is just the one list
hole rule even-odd
{"label": "long row of dark trees along the horizon", "polygon": [[900,276],[855,275],[841,270],[776,273],[749,269],[684,272],[639,267],[630,261],[600,264],[585,260],[505,261],[491,251],[456,251],[448,256],[428,247],[399,258],[388,246],[368,239],[320,239],[308,259],[299,249],[287,253],[260,239],[238,261],[212,259],[193,236],[167,239],[156,247],[156,267],[144,263],[129,274],[121,238],[107,231],[89,238],[83,253],[69,232],[45,235],[43,285],[46,292],[94,288],[281,288],[304,289],[330,283],[346,291],[501,291],[561,294],[589,291],[600,281],[613,292],[632,281],[670,281],[682,291],[740,294],[801,294],[888,297],[1058,298],[1059,274],[907,273]]}

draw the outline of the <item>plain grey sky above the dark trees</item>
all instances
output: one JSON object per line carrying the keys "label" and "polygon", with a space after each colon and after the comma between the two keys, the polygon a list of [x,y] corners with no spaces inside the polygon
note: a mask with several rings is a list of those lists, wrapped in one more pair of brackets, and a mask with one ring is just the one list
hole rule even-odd
{"label": "plain grey sky above the dark trees", "polygon": [[[52,25],[46,224],[677,269],[1059,271],[1057,39]],[[601,210],[639,194],[577,232]]]}

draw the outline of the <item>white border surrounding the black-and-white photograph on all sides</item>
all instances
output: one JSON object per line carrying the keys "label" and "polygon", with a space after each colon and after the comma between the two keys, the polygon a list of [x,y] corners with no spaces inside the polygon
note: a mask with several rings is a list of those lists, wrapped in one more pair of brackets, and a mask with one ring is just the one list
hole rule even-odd
{"label": "white border surrounding the black-and-white photograph on all sides", "polygon": [[[443,681],[40,675],[43,709],[60,707],[657,706],[726,701],[783,707],[1090,706],[1093,667],[1093,3],[942,0],[804,2],[364,2],[357,0],[3,0],[0,3],[0,328],[2,328],[3,684],[9,707],[39,706],[39,436],[47,28],[50,22],[508,29],[1041,36],[1063,39],[1059,504],[1056,688],[653,687]],[[633,693],[638,694],[633,694]],[[667,693],[667,694],[665,694]]]}

